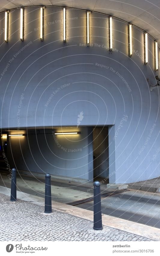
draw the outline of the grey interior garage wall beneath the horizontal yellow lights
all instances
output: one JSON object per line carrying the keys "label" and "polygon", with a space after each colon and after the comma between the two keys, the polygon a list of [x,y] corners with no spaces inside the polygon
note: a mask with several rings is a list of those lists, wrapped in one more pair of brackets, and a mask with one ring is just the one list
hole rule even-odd
{"label": "grey interior garage wall beneath the horizontal yellow lights", "polygon": [[53,131],[77,131],[77,128],[21,131],[25,136],[8,137],[10,166],[32,173],[50,173],[53,177],[88,180],[88,128],[78,128],[81,133],[76,135],[54,135]]}

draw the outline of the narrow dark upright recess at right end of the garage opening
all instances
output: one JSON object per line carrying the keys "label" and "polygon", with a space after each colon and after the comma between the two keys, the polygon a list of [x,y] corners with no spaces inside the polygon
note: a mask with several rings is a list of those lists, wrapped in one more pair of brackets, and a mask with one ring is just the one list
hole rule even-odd
{"label": "narrow dark upright recess at right end of the garage opening", "polygon": [[[109,175],[108,127],[93,127],[93,176],[104,180]],[[109,183],[107,180],[106,183]]]}

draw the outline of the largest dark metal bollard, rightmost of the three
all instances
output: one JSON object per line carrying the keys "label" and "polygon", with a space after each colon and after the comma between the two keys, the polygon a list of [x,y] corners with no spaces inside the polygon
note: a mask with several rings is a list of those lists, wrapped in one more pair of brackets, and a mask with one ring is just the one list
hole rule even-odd
{"label": "largest dark metal bollard, rightmost of the three", "polygon": [[93,229],[101,230],[102,227],[102,213],[101,213],[101,189],[100,182],[95,181],[94,185],[94,225]]}

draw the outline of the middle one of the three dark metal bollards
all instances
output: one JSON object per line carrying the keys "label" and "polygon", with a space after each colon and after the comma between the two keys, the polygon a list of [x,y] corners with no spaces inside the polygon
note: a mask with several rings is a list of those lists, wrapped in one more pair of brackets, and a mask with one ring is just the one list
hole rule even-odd
{"label": "middle one of the three dark metal bollards", "polygon": [[45,213],[52,212],[50,174],[45,175]]}

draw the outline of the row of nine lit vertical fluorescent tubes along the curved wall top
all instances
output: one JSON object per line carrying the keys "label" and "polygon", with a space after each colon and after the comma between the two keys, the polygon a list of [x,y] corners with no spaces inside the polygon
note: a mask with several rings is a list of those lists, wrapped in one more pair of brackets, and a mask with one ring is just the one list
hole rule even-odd
{"label": "row of nine lit vertical fluorescent tubes along the curved wall top", "polygon": [[[41,7],[41,19],[40,19],[40,38],[43,41],[43,10],[45,7]],[[5,42],[8,42],[8,13],[5,12]],[[91,11],[87,11],[87,44],[89,46],[89,14]],[[129,56],[132,56],[132,24],[128,24],[129,31]],[[110,51],[113,49],[112,40],[112,17],[109,17],[109,34],[110,34]],[[24,38],[24,9],[20,8],[20,40]],[[63,42],[66,42],[66,8],[63,8]],[[144,34],[144,63],[148,63],[148,34]],[[155,41],[155,71],[158,70],[158,43]]]}

